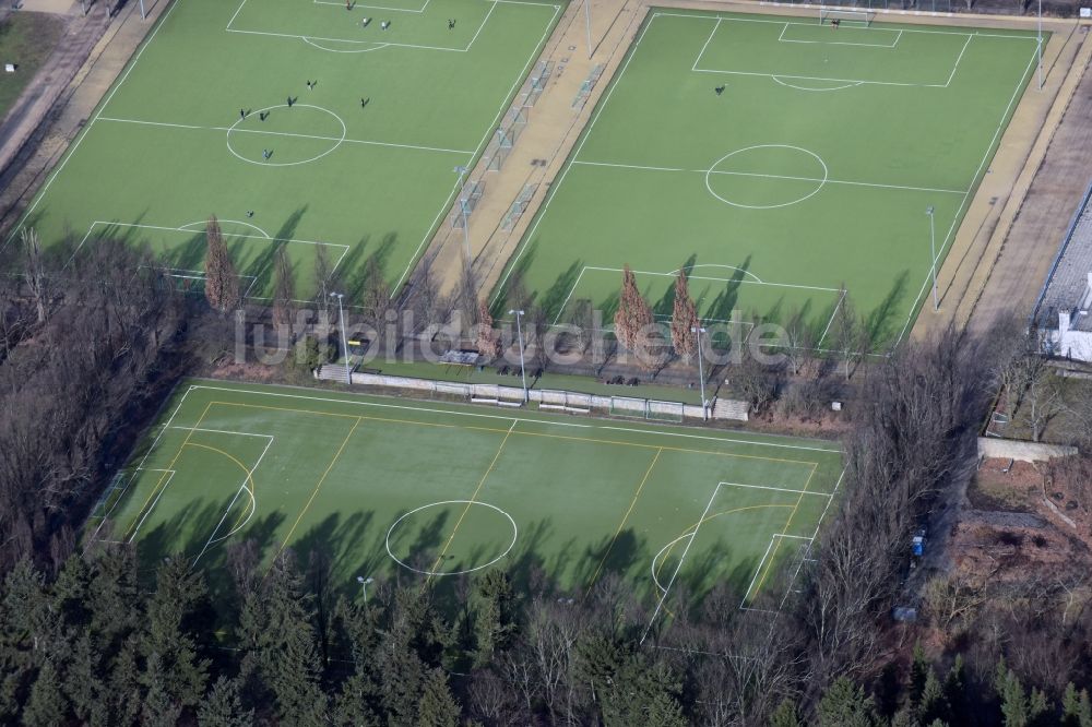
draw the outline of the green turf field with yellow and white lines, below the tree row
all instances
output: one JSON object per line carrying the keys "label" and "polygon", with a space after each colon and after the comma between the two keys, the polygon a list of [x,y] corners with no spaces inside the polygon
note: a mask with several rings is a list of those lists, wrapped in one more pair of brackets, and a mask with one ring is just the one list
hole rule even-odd
{"label": "green turf field with yellow and white lines, below the tree row", "polygon": [[776,606],[840,473],[826,442],[199,381],[87,537],[145,563],[182,552],[214,581],[250,538],[266,563],[324,550],[346,588],[541,568],[580,593],[619,573],[650,607],[717,581]]}

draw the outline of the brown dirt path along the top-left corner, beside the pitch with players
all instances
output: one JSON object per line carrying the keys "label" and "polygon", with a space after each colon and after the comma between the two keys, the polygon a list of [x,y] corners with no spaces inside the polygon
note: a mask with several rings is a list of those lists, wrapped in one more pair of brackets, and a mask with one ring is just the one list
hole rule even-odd
{"label": "brown dirt path along the top-left corner, beside the pitch with players", "polygon": [[[167,7],[166,0],[146,2],[147,20],[141,20],[139,3],[133,1],[111,19],[108,3],[96,3],[86,16],[73,19],[49,60],[48,72],[27,86],[0,127],[0,230],[4,236]],[[79,4],[73,5],[78,10]]]}

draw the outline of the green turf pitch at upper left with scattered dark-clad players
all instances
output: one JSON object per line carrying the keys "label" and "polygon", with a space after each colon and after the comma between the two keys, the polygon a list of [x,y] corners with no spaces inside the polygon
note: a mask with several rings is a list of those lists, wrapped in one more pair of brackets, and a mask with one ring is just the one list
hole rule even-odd
{"label": "green turf pitch at upper left with scattered dark-clad players", "polygon": [[491,139],[560,11],[176,0],[22,225],[47,246],[146,241],[180,278],[200,278],[215,214],[253,297],[269,295],[280,245],[297,297],[314,288],[318,246],[346,293],[369,259],[396,286],[451,204],[454,168]]}

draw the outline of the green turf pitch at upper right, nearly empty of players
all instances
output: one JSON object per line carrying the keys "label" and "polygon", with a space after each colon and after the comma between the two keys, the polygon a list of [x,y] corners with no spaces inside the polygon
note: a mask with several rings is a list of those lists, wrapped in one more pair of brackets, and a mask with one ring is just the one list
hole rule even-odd
{"label": "green turf pitch at upper right, nearly empty of players", "polygon": [[[673,276],[708,322],[804,312],[842,286],[875,345],[926,291],[1034,74],[1034,34],[653,11],[501,284],[555,322],[613,314],[621,267],[655,312]],[[722,88],[720,94],[716,88]]]}

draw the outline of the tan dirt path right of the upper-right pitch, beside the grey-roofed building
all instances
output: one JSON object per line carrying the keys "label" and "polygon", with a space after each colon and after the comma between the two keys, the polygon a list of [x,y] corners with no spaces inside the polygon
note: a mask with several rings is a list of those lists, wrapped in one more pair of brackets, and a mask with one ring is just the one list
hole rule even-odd
{"label": "tan dirt path right of the upper-right pitch, beside the grey-roofed building", "polygon": [[914,336],[1025,317],[1088,186],[1092,40],[1088,26],[1052,25],[1043,88],[1033,78],[938,273],[940,310],[926,301]]}

